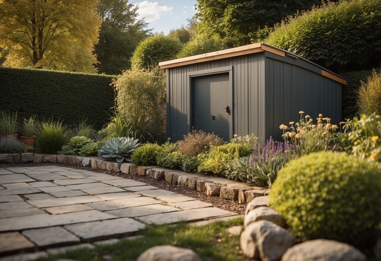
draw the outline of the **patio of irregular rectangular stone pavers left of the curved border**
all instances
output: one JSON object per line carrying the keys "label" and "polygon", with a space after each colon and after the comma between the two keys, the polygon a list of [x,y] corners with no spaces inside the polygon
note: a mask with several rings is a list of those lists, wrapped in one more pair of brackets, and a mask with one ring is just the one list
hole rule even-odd
{"label": "patio of irregular rectangular stone pavers left of the curved border", "polygon": [[0,261],[93,248],[101,244],[98,240],[131,236],[146,223],[236,215],[104,173],[57,166],[0,168]]}

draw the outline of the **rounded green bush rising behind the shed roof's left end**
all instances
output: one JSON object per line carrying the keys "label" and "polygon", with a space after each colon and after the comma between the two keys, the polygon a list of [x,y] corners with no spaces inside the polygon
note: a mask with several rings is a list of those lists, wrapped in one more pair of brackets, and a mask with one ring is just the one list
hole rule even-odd
{"label": "rounded green bush rising behind the shed roof's left end", "polygon": [[159,62],[174,59],[181,48],[182,44],[177,38],[155,33],[136,47],[131,58],[131,67],[134,69],[155,67]]}

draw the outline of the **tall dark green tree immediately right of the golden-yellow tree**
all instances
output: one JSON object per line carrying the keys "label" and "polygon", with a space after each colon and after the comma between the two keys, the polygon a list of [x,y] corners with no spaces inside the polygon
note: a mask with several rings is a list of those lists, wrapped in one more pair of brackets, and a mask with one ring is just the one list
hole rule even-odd
{"label": "tall dark green tree immediately right of the golden-yellow tree", "polygon": [[131,57],[138,43],[147,37],[144,20],[137,20],[138,6],[128,0],[100,0],[98,15],[102,19],[95,53],[99,73],[119,74],[131,68]]}

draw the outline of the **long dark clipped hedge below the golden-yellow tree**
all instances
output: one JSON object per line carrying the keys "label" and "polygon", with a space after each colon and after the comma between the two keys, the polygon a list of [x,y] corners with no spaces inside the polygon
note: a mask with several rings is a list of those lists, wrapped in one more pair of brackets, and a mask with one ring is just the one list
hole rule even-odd
{"label": "long dark clipped hedge below the golden-yellow tree", "polygon": [[66,124],[87,117],[100,129],[114,106],[113,76],[0,67],[0,110],[17,111],[19,121],[36,115]]}

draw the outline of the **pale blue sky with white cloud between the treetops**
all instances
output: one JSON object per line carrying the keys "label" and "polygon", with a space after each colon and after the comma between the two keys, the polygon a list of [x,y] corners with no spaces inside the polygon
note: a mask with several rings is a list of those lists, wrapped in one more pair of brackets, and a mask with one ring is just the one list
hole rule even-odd
{"label": "pale blue sky with white cloud between the treetops", "polygon": [[152,32],[168,34],[171,29],[178,29],[188,24],[187,19],[195,14],[197,0],[132,0],[139,4],[138,19],[144,18]]}

